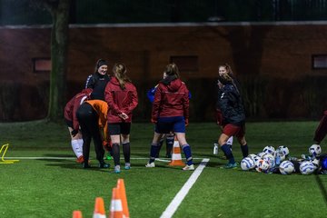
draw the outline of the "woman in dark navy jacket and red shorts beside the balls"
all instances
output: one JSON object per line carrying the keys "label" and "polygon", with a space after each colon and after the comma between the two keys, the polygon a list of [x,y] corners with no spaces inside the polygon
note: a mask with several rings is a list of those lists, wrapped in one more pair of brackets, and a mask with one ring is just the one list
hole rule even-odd
{"label": "woman in dark navy jacket and red shorts beside the balls", "polygon": [[218,144],[228,159],[228,163],[223,168],[235,168],[233,152],[227,144],[228,138],[235,136],[241,144],[243,157],[249,153],[245,141],[245,113],[240,92],[229,74],[222,74],[218,79],[218,99],[217,108],[220,108],[223,115],[223,133],[220,135]]}

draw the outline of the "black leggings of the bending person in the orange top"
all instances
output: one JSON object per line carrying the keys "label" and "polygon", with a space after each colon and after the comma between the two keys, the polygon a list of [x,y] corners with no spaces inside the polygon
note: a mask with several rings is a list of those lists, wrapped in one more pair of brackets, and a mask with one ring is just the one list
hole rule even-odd
{"label": "black leggings of the bending person in the orange top", "polygon": [[94,111],[92,105],[84,103],[77,109],[76,116],[81,126],[83,135],[83,156],[84,162],[87,163],[90,156],[91,139],[94,139],[94,150],[96,159],[99,162],[104,161],[104,148],[102,145],[102,137],[99,130],[99,116]]}

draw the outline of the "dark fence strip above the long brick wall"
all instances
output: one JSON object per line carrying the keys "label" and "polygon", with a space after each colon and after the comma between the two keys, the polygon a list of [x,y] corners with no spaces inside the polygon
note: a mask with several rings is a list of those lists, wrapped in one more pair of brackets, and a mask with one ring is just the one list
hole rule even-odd
{"label": "dark fence strip above the long brick wall", "polygon": [[[33,0],[0,0],[0,25],[51,24]],[[27,10],[26,10],[27,8]],[[327,0],[72,0],[72,24],[327,20]]]}

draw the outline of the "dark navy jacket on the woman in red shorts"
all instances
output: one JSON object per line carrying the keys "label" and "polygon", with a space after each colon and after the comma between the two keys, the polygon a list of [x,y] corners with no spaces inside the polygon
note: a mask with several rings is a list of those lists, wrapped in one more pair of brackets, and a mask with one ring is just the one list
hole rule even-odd
{"label": "dark navy jacket on the woman in red shorts", "polygon": [[240,93],[233,84],[225,84],[218,90],[217,108],[222,111],[223,124],[241,125],[245,113]]}

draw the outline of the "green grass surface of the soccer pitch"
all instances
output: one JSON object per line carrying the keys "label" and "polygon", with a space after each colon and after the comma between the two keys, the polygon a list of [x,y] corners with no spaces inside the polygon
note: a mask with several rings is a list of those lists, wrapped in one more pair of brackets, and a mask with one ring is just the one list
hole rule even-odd
{"label": "green grass surface of the soccer pitch", "polygon": [[[287,145],[292,156],[306,154],[317,124],[249,123],[246,138],[250,153],[258,153],[266,145]],[[160,217],[192,172],[168,167],[164,162],[156,162],[154,169],[144,167],[153,129],[152,124],[132,125],[132,158],[144,159],[134,159],[130,171],[114,174],[112,167],[84,170],[75,163],[64,124],[0,124],[0,144],[10,144],[6,156],[65,158],[21,159],[14,164],[0,164],[0,217],[71,217],[74,210],[92,217],[97,196],[104,197],[109,209],[118,178],[124,179],[131,217]],[[215,124],[193,123],[187,128],[193,157],[200,158],[195,159],[195,164],[204,157],[210,158],[210,162],[173,217],[327,217],[327,175],[219,169],[226,163],[221,151],[213,155],[213,142],[219,134]],[[322,152],[326,151],[323,142]],[[240,161],[241,150],[236,143],[233,152]],[[92,147],[95,166],[94,156]]]}

